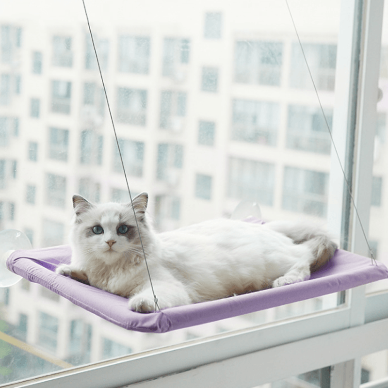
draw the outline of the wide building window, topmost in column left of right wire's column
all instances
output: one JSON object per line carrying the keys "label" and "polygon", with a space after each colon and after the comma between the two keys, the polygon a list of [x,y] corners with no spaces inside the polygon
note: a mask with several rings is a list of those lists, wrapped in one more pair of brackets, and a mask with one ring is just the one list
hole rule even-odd
{"label": "wide building window, topmost in column left of right wire's column", "polygon": [[238,41],[235,46],[235,81],[279,86],[283,44],[264,41]]}

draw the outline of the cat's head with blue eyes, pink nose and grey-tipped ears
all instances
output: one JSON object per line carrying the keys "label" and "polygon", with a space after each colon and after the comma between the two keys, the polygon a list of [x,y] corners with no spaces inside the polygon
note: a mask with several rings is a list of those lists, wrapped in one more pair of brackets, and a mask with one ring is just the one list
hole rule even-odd
{"label": "cat's head with blue eyes, pink nose and grey-tipped ears", "polygon": [[[145,211],[148,195],[133,199],[137,225],[145,234]],[[123,256],[141,256],[141,243],[131,204],[106,203],[94,205],[80,195],[73,196],[75,219],[71,232],[73,244],[86,259],[113,263]],[[143,230],[143,232],[142,232]]]}

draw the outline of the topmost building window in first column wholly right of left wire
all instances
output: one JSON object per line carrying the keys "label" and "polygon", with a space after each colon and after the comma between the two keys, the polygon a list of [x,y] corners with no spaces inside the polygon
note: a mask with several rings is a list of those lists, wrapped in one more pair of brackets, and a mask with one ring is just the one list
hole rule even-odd
{"label": "topmost building window in first column wholly right of left wire", "polygon": [[147,36],[119,37],[119,71],[148,74],[150,39]]}

